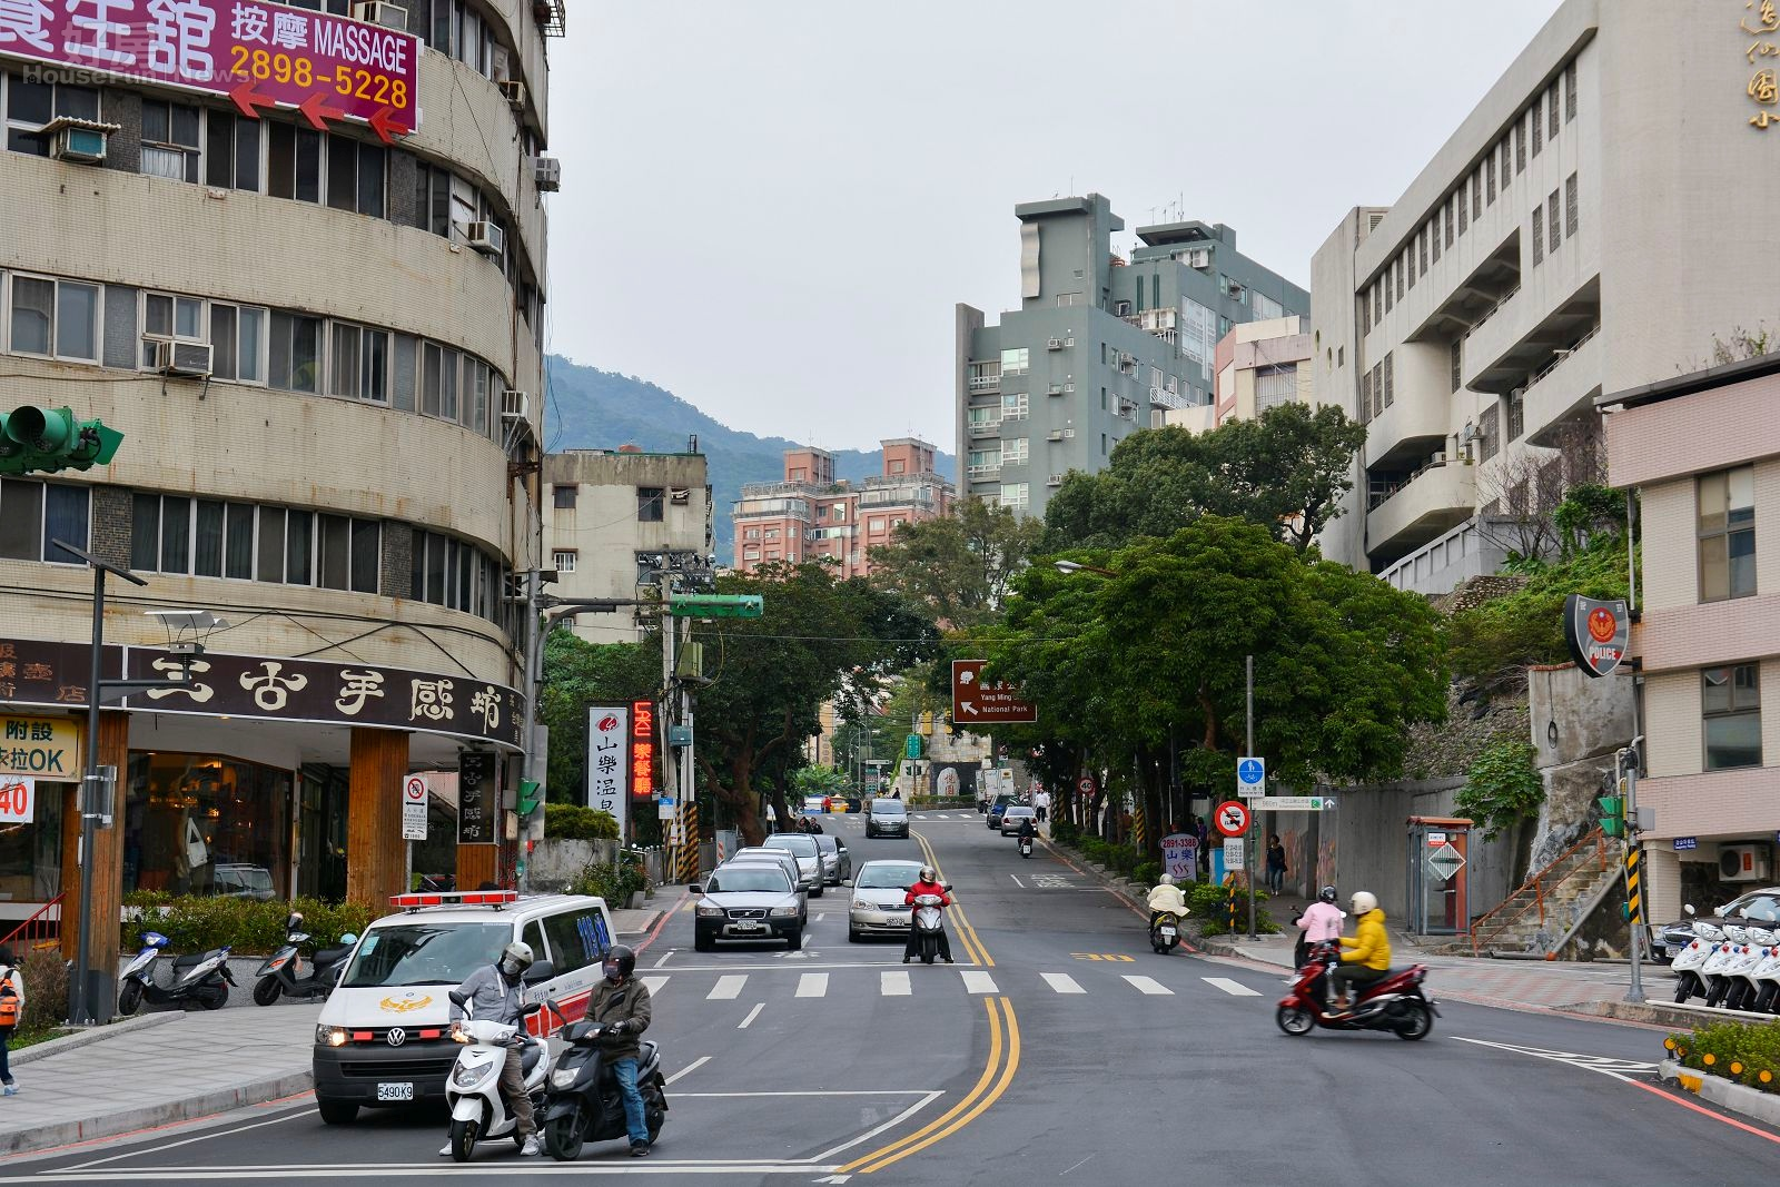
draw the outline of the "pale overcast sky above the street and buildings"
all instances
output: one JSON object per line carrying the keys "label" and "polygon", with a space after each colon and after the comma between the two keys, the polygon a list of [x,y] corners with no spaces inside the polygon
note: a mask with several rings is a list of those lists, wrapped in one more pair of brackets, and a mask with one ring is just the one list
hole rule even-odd
{"label": "pale overcast sky above the street and buildings", "polygon": [[1308,287],[1340,215],[1394,201],[1556,9],[570,4],[548,345],[735,429],[952,448],[952,304],[1018,304],[1015,203],[1228,222]]}

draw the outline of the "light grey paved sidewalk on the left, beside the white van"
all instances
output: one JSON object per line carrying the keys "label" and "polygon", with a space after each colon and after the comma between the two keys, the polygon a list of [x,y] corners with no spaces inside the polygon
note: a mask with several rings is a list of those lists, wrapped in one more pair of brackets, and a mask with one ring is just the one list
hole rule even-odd
{"label": "light grey paved sidewalk on the left, beside the white van", "polygon": [[[673,888],[612,911],[641,940],[673,911]],[[251,984],[251,982],[249,982]],[[18,1096],[0,1098],[0,1155],[114,1137],[310,1091],[322,1005],[231,1000],[219,1011],[148,1013],[12,1054]]]}

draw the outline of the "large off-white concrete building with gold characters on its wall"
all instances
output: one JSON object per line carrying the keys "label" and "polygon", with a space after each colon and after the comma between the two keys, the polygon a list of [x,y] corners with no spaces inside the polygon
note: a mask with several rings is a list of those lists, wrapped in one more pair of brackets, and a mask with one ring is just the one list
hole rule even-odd
{"label": "large off-white concrete building with gold characters on its wall", "polygon": [[1780,308],[1780,28],[1743,7],[1568,0],[1403,196],[1317,251],[1315,392],[1371,429],[1326,555],[1451,589],[1479,514],[1598,479],[1600,392]]}

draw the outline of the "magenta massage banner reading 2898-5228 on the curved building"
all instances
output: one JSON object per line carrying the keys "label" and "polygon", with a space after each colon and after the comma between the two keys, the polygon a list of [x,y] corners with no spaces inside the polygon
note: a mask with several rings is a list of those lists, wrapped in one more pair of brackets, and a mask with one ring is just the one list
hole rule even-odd
{"label": "magenta massage banner reading 2898-5228 on the curved building", "polygon": [[420,39],[331,12],[246,0],[4,0],[0,55],[55,82],[141,78],[226,94],[258,119],[294,107],[317,128],[361,119],[384,141],[420,123]]}

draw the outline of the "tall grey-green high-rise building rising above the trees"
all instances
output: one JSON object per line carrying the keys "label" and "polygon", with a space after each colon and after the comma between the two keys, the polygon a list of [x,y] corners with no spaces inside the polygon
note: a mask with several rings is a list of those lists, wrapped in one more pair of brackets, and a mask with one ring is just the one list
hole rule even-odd
{"label": "tall grey-green high-rise building rising above the trees", "polygon": [[1020,308],[988,326],[956,311],[959,493],[1043,516],[1070,470],[1093,473],[1112,447],[1210,404],[1214,351],[1232,326],[1310,311],[1303,288],[1235,249],[1225,224],[1137,228],[1100,194],[1015,206]]}

